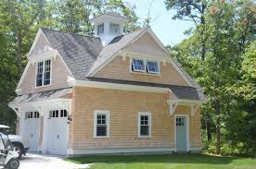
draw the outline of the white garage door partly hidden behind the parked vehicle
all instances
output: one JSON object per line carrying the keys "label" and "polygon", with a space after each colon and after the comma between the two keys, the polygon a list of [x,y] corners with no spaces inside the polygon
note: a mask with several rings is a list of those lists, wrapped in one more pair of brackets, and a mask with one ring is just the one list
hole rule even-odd
{"label": "white garage door partly hidden behind the parked vehicle", "polygon": [[24,138],[30,139],[30,151],[38,151],[39,112],[26,113],[24,129]]}

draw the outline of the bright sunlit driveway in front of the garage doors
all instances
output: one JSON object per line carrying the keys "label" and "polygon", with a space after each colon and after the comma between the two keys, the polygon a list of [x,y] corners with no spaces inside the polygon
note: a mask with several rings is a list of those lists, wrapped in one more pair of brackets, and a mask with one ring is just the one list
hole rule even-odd
{"label": "bright sunlit driveway in front of the garage doors", "polygon": [[19,169],[80,169],[89,167],[89,164],[69,163],[63,159],[65,157],[28,153],[21,157]]}

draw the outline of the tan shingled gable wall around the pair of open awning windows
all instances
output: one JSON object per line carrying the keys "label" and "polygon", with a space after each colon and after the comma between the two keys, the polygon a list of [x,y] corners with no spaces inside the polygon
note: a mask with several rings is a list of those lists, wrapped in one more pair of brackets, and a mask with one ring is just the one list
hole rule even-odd
{"label": "tan shingled gable wall around the pair of open awning windows", "polygon": [[187,86],[186,81],[170,63],[166,63],[166,65],[163,66],[163,63],[160,62],[160,75],[130,73],[130,58],[127,57],[124,61],[122,56],[117,56],[110,61],[107,66],[104,66],[101,70],[99,70],[99,72],[96,73],[95,77],[118,78]]}

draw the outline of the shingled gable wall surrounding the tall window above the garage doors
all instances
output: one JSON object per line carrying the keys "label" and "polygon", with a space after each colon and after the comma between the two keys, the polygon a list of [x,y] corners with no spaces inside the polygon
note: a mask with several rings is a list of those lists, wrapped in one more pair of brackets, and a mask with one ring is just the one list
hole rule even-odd
{"label": "shingled gable wall surrounding the tall window above the garage doors", "polygon": [[69,87],[67,82],[68,76],[70,75],[68,68],[64,65],[63,61],[60,60],[59,56],[56,57],[56,60],[52,59],[52,62],[51,85],[35,88],[35,69],[37,66],[36,64],[34,64],[34,66],[31,64],[22,84],[20,85],[22,94]]}

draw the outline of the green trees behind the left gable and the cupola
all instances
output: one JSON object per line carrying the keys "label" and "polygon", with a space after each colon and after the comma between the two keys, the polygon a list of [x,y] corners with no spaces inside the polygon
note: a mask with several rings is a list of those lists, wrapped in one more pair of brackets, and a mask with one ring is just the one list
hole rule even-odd
{"label": "green trees behind the left gable and the cupola", "polygon": [[111,11],[130,19],[126,32],[139,27],[134,6],[122,0],[0,1],[0,124],[15,127],[16,115],[6,103],[16,96],[26,55],[39,28],[92,35],[89,17]]}

